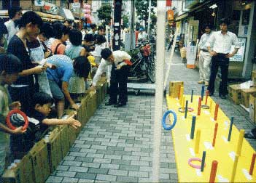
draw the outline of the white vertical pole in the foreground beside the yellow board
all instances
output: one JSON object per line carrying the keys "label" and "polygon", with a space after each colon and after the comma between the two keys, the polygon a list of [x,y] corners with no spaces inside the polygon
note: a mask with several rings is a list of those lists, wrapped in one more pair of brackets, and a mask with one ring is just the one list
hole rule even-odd
{"label": "white vertical pole in the foreground beside the yellow board", "polygon": [[152,160],[152,182],[159,182],[160,175],[160,142],[161,142],[161,118],[163,117],[163,65],[165,50],[165,23],[166,1],[158,1],[157,23],[157,60],[155,78],[155,123],[154,123],[154,151]]}

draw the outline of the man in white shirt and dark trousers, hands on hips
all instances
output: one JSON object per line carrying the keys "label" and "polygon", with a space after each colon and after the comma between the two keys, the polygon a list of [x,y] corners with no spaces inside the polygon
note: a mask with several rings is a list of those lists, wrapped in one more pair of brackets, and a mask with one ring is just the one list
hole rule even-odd
{"label": "man in white shirt and dark trousers, hands on hips", "polygon": [[[236,34],[228,31],[228,25],[228,19],[221,19],[220,31],[212,33],[212,36],[206,42],[207,49],[212,55],[211,76],[208,86],[209,95],[212,96],[214,94],[214,81],[220,66],[222,81],[220,83],[219,95],[222,99],[225,99],[228,94],[227,84],[229,58],[233,57],[240,48],[240,43]],[[230,53],[232,44],[234,44],[235,49]]]}

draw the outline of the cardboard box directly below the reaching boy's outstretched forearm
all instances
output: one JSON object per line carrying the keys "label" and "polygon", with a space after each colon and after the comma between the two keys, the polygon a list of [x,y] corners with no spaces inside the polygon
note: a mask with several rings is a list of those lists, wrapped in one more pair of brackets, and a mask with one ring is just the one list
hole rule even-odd
{"label": "cardboard box directly below the reaching boy's outstretched forearm", "polygon": [[58,163],[61,162],[62,155],[61,150],[61,133],[58,128],[50,131],[50,135],[47,138],[44,138],[44,141],[47,143],[47,150],[50,163],[50,172],[53,173],[58,166]]}

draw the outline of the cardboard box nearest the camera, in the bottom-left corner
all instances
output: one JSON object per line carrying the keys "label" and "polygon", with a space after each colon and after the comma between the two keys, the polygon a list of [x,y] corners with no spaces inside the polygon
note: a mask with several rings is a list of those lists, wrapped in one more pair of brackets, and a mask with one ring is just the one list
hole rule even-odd
{"label": "cardboard box nearest the camera, in the bottom-left corner", "polygon": [[31,156],[25,155],[16,168],[4,171],[2,179],[6,183],[34,183]]}

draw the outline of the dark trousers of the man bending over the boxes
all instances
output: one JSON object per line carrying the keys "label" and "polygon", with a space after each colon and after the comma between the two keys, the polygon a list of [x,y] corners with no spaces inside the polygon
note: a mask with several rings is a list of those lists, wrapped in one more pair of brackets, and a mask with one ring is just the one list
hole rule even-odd
{"label": "dark trousers of the man bending over the boxes", "polygon": [[118,102],[126,103],[128,102],[127,97],[127,81],[128,81],[128,67],[123,66],[120,70],[115,68],[115,64],[112,65],[111,78],[110,78],[110,88],[109,102],[116,103],[117,95],[119,94]]}

